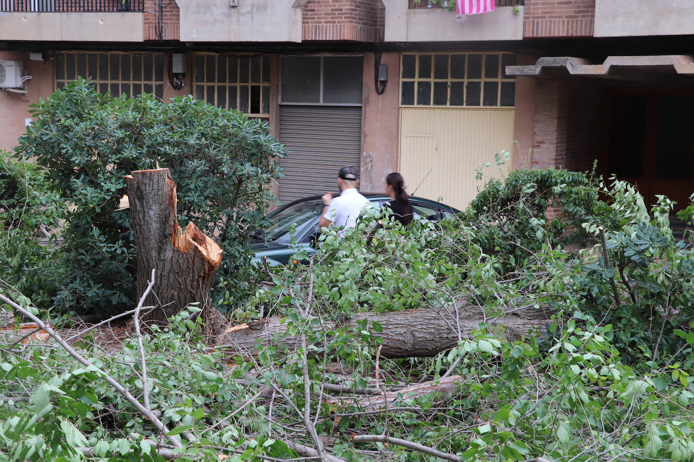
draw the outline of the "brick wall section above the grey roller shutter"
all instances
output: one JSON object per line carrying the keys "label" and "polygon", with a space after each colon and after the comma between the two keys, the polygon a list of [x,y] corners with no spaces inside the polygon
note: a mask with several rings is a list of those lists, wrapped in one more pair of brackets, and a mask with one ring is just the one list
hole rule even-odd
{"label": "brick wall section above the grey roller shutter", "polygon": [[381,0],[308,0],[303,7],[304,40],[383,40]]}

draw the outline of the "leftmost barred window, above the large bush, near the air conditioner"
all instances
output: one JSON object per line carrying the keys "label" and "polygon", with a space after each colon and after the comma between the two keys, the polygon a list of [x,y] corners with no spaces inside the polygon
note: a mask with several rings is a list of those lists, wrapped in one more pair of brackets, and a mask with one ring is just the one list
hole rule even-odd
{"label": "leftmost barred window, above the large bush, near the air conditioner", "polygon": [[56,88],[78,76],[91,77],[101,94],[137,96],[153,93],[164,98],[163,53],[67,52],[56,57]]}

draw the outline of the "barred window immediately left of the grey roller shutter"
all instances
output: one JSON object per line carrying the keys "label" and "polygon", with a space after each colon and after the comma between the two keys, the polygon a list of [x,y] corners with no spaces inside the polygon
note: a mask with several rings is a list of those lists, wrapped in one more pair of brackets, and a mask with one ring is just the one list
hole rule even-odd
{"label": "barred window immediately left of the grey roller shutter", "polygon": [[269,117],[270,57],[196,55],[195,98],[248,116]]}

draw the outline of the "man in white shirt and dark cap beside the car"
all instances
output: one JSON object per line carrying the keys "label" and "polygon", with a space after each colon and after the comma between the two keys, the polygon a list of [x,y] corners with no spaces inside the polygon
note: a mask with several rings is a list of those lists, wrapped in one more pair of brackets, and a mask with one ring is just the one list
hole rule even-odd
{"label": "man in white shirt and dark cap beside the car", "polygon": [[331,193],[323,195],[325,205],[318,226],[323,228],[332,224],[339,230],[339,235],[344,236],[347,229],[357,224],[359,213],[373,205],[369,199],[357,191],[359,179],[357,179],[357,170],[353,166],[344,166],[340,169],[337,174],[337,184],[342,193],[337,197],[332,197]]}

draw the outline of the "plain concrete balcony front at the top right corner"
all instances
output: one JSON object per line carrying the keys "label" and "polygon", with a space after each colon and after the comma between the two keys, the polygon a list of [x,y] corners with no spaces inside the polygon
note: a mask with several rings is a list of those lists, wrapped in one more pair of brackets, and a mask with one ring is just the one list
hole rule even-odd
{"label": "plain concrete balcony front at the top right corner", "polygon": [[595,37],[692,34],[691,0],[595,0]]}

